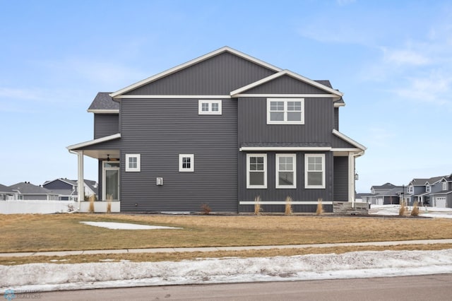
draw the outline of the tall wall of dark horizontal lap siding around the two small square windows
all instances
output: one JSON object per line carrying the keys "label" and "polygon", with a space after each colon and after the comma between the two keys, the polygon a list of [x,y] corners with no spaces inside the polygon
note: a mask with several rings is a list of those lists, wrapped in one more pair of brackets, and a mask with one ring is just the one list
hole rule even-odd
{"label": "tall wall of dark horizontal lap siding around the two small square windows", "polygon": [[[121,164],[121,211],[237,212],[237,100],[222,100],[222,115],[186,99],[127,99],[121,112],[121,160],[141,154],[141,172]],[[194,172],[179,172],[179,154],[194,154]]]}

